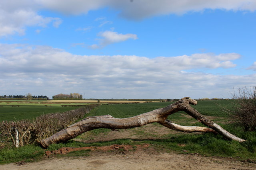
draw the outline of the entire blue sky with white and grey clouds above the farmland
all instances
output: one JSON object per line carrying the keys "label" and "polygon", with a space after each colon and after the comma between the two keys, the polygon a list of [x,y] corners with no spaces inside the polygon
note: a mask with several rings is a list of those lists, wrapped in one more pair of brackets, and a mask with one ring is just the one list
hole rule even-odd
{"label": "entire blue sky with white and grey clouds above the farmland", "polygon": [[0,95],[231,98],[256,86],[256,0],[2,0]]}

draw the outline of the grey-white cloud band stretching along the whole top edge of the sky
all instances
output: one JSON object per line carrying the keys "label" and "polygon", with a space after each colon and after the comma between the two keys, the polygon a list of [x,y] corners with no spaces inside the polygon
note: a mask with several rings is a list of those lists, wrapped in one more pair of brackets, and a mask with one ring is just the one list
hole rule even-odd
{"label": "grey-white cloud band stretching along the whole top edge of the sky", "polygon": [[[59,11],[64,14],[86,14],[90,10],[110,7],[120,15],[140,20],[150,16],[201,12],[205,9],[255,11],[255,0],[2,0],[0,1],[0,36],[18,33],[24,35],[26,27],[58,27],[60,18],[44,17],[40,10]],[[96,21],[104,20],[104,17]],[[103,22],[104,25],[109,22]]]}

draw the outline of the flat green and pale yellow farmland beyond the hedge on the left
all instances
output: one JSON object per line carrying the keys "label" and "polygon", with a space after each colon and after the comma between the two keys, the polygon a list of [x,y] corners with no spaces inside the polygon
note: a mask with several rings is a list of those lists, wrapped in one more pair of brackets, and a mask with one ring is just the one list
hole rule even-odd
{"label": "flat green and pale yellow farmland beyond the hedge on the left", "polygon": [[[145,103],[146,101],[120,101],[120,100],[104,100],[103,103]],[[0,100],[0,121],[15,121],[20,119],[33,119],[41,114],[64,112],[72,110],[74,106],[85,104],[98,104],[97,100]]]}

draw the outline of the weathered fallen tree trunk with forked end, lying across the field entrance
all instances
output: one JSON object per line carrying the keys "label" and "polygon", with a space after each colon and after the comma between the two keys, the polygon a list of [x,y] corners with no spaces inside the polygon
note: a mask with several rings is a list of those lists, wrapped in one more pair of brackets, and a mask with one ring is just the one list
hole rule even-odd
{"label": "weathered fallen tree trunk with forked end, lying across the field entrance", "polygon": [[[107,129],[129,129],[132,127],[141,127],[148,123],[157,122],[165,127],[176,131],[182,132],[211,132],[219,133],[224,136],[226,139],[235,140],[238,142],[244,142],[244,139],[240,139],[228,131],[224,130],[218,124],[210,121],[202,114],[200,114],[196,109],[192,108],[189,104],[196,105],[196,100],[191,98],[182,98],[178,102],[171,104],[167,107],[161,109],[155,109],[153,111],[143,113],[134,117],[128,118],[114,118],[111,115],[104,116],[94,116],[86,117],[85,119],[70,125],[66,129],[63,129],[47,139],[40,141],[41,145],[47,148],[52,143],[65,142],[74,137],[81,135],[84,132],[91,131],[98,128],[107,128]],[[188,115],[194,117],[199,122],[203,123],[208,127],[196,127],[196,126],[180,126],[175,123],[172,123],[167,119],[168,115],[176,113],[177,111],[185,111]]]}

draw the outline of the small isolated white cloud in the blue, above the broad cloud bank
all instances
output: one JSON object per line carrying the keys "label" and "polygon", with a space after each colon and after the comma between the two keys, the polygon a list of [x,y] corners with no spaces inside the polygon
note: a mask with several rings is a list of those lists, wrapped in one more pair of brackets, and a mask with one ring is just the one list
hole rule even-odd
{"label": "small isolated white cloud in the blue, above the broad cloud bank", "polygon": [[121,34],[114,31],[104,31],[98,34],[98,36],[102,37],[102,39],[99,39],[100,43],[99,45],[93,44],[89,47],[92,49],[105,47],[106,45],[110,45],[113,43],[120,43],[122,41],[126,41],[128,39],[138,39],[136,34]]}

